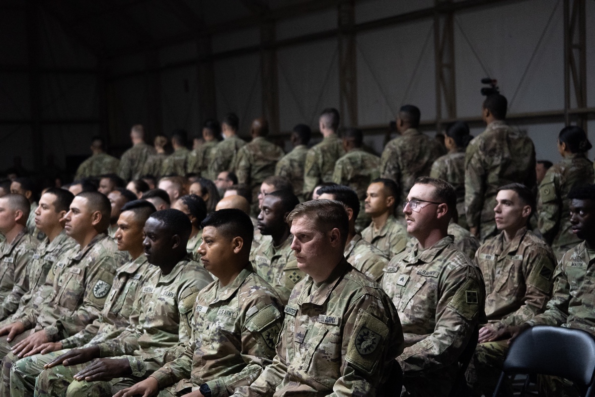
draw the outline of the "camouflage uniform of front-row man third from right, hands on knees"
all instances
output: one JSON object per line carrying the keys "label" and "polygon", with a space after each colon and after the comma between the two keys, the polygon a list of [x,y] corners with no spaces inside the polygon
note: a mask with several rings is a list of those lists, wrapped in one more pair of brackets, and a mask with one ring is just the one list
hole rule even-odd
{"label": "camouflage uniform of front-row man third from right, hands on knees", "polygon": [[112,396],[145,379],[186,350],[192,333],[192,307],[198,292],[211,282],[208,272],[189,258],[167,275],[160,270],[152,272],[134,307],[139,325],[98,345],[101,357],[127,358],[132,375],[107,382],[79,382],[73,376],[87,364],[58,366],[39,374],[36,395]]}

